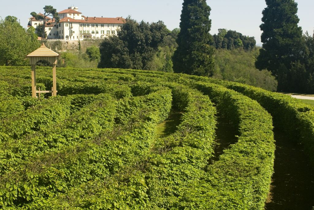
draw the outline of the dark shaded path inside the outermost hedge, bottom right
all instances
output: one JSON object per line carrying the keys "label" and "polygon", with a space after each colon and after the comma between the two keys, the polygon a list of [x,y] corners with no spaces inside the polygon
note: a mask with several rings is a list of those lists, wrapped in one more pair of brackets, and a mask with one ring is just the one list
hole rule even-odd
{"label": "dark shaded path inside the outermost hedge, bottom right", "polygon": [[266,210],[311,210],[314,206],[314,174],[302,145],[274,130],[276,152],[273,182]]}

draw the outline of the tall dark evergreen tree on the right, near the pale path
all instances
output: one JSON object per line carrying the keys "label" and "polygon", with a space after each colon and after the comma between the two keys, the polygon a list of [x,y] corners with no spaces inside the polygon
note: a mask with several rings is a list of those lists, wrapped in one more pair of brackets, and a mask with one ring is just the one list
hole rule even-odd
{"label": "tall dark evergreen tree on the right, near the pale path", "polygon": [[[278,90],[290,89],[293,63],[303,62],[306,46],[298,26],[298,4],[294,0],[266,0],[263,10],[263,48],[255,63],[259,70],[268,69],[278,79]],[[296,75],[294,73],[294,75]]]}

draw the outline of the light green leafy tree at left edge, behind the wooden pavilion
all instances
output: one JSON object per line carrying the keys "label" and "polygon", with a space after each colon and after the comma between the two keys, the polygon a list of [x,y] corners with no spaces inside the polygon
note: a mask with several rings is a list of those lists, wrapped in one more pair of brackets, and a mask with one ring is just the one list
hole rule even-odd
{"label": "light green leafy tree at left edge, behind the wooden pavilion", "polygon": [[0,21],[0,65],[27,65],[26,55],[40,47],[35,29],[27,31],[16,17],[7,16]]}

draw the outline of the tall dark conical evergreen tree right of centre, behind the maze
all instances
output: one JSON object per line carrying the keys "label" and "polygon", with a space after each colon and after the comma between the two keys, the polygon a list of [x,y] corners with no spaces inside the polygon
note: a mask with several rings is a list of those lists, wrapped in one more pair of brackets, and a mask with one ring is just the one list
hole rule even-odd
{"label": "tall dark conical evergreen tree right of centre, behind the maze", "polygon": [[174,72],[213,75],[215,49],[210,46],[210,10],[206,0],[183,1],[178,48],[173,55]]}

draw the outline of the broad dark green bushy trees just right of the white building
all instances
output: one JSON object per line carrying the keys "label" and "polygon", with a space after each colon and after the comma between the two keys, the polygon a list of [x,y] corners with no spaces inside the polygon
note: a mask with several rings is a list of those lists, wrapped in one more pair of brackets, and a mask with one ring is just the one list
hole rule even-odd
{"label": "broad dark green bushy trees just right of the white building", "polygon": [[117,36],[107,37],[100,44],[98,67],[150,70],[158,47],[169,33],[162,21],[138,23],[128,17],[117,31]]}

